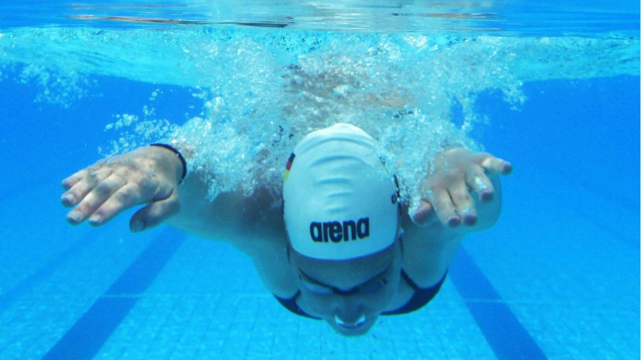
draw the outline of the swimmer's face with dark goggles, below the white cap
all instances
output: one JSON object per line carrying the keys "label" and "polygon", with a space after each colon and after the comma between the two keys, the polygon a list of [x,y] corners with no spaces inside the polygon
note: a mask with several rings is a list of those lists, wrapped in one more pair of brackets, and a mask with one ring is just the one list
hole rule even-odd
{"label": "swimmer's face with dark goggles, below the white cap", "polygon": [[334,261],[308,258],[290,249],[301,301],[344,336],[365,334],[398,292],[401,243],[369,256]]}

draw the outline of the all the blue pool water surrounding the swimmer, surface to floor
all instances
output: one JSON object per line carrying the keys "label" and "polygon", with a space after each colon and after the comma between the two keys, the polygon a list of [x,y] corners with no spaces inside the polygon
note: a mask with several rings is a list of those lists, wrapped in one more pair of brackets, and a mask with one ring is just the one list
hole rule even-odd
{"label": "all the blue pool water surrounding the swimmer, surface to floor", "polygon": [[[150,5],[0,5],[0,359],[639,358],[637,2]],[[133,211],[65,222],[64,177],[194,117],[232,181],[270,121],[319,117],[397,121],[408,162],[441,136],[514,171],[428,306],[342,338],[229,245],[131,234]]]}

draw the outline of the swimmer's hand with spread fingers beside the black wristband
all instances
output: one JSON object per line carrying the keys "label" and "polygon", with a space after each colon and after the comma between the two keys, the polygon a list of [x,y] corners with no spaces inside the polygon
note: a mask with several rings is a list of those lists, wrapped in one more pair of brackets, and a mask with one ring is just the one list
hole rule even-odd
{"label": "swimmer's hand with spread fingers beside the black wristband", "polygon": [[149,229],[178,213],[182,174],[176,154],[158,146],[98,161],[62,181],[67,190],[62,204],[75,206],[67,221],[76,225],[88,218],[99,226],[125,209],[147,204],[131,217],[129,228],[134,233]]}

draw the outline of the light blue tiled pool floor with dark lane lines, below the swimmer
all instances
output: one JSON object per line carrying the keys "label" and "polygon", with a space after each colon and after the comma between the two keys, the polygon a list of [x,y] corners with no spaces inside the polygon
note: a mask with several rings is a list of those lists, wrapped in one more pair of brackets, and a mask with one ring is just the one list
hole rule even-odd
{"label": "light blue tiled pool floor with dark lane lines, below the swimmer", "polygon": [[224,243],[129,234],[131,212],[71,227],[58,184],[12,193],[0,358],[638,359],[638,213],[537,168],[503,184],[501,219],[465,238],[438,296],[360,338],[289,313]]}

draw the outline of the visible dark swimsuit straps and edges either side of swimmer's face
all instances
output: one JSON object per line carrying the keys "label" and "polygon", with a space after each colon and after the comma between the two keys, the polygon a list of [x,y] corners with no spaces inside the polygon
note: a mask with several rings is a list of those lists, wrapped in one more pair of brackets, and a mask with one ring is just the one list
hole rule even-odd
{"label": "visible dark swimsuit straps and edges either side of swimmer's face", "polygon": [[[437,282],[434,286],[430,286],[429,288],[419,288],[419,286],[416,284],[416,282],[412,281],[410,277],[405,273],[404,270],[401,270],[401,277],[405,282],[407,282],[408,285],[412,287],[414,290],[414,295],[412,295],[412,298],[406,302],[405,305],[399,307],[398,309],[392,310],[392,311],[383,311],[381,315],[400,315],[400,314],[406,314],[406,313],[412,313],[412,311],[416,311],[420,309],[421,307],[425,306],[428,304],[430,300],[432,300],[438,293],[438,290],[440,290],[440,287],[443,285],[443,282],[445,281],[445,276],[447,275],[447,272],[445,272],[445,275],[443,275],[442,279]],[[290,297],[288,299],[284,299],[281,297],[276,297],[276,300],[281,303],[282,306],[285,306],[289,311],[296,315],[300,316],[305,316],[307,318],[312,318],[316,320],[320,320],[320,318],[317,318],[316,316],[309,315],[308,313],[305,313],[301,307],[296,304],[296,300],[298,297],[301,296],[301,290],[296,291],[296,294],[294,294],[293,297]]]}

